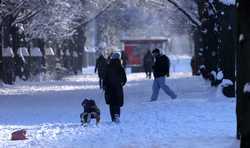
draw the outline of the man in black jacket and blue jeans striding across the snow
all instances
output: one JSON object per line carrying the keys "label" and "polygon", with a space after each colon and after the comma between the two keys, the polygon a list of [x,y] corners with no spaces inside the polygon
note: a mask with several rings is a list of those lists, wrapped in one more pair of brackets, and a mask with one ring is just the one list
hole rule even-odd
{"label": "man in black jacket and blue jeans striding across the snow", "polygon": [[170,61],[165,55],[160,54],[159,49],[154,49],[152,51],[155,57],[155,63],[153,65],[153,94],[151,96],[151,101],[156,101],[159,95],[160,88],[169,95],[172,99],[175,99],[177,95],[165,84],[165,76],[169,77]]}

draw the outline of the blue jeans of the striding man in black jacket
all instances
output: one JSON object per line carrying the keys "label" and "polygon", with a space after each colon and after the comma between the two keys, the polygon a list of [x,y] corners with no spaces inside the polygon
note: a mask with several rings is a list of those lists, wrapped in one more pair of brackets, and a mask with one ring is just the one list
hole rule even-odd
{"label": "blue jeans of the striding man in black jacket", "polygon": [[151,101],[155,101],[158,98],[160,88],[169,95],[172,99],[175,99],[176,94],[165,84],[165,77],[155,78],[153,82],[153,94],[151,96]]}

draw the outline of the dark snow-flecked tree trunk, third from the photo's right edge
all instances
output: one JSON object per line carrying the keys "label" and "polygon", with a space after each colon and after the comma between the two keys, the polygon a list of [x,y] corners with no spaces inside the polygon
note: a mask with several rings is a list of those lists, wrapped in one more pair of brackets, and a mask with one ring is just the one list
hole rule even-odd
{"label": "dark snow-flecked tree trunk, third from the photo's right edge", "polygon": [[210,73],[211,71],[218,71],[220,68],[219,60],[219,46],[218,46],[218,32],[215,31],[217,23],[216,14],[211,13],[212,8],[208,1],[198,1],[198,12],[201,26],[201,45],[200,57],[204,64],[204,70],[201,71],[203,77],[211,81],[211,85],[215,85],[216,78]]}

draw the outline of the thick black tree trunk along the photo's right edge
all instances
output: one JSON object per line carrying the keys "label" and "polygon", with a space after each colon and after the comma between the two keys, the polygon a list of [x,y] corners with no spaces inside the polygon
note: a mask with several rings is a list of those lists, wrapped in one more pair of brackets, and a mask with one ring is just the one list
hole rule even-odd
{"label": "thick black tree trunk along the photo's right edge", "polygon": [[250,95],[244,93],[250,82],[250,1],[238,0],[237,51],[237,123],[241,135],[241,148],[250,147]]}

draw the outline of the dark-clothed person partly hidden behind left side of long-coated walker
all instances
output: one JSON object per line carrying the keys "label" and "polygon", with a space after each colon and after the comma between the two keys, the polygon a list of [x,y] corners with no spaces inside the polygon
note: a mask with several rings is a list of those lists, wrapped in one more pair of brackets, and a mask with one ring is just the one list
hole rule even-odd
{"label": "dark-clothed person partly hidden behind left side of long-coated walker", "polygon": [[104,79],[104,74],[105,74],[106,67],[107,67],[107,60],[101,54],[96,59],[96,65],[95,65],[95,73],[96,72],[98,73],[100,89],[103,88],[103,79]]}

